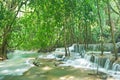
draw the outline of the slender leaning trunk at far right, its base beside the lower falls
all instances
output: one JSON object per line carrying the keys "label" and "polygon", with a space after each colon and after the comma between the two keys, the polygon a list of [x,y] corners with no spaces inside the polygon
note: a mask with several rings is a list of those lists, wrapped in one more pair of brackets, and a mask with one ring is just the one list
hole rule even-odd
{"label": "slender leaning trunk at far right, its base beside the lower falls", "polygon": [[117,60],[118,55],[117,55],[117,48],[116,48],[115,39],[114,39],[113,25],[112,25],[112,22],[111,22],[112,19],[111,19],[111,13],[110,13],[110,2],[109,2],[109,0],[107,0],[107,6],[108,6],[108,18],[109,18],[109,25],[110,25],[110,30],[111,30],[111,37],[112,37],[114,54],[115,54],[115,60]]}

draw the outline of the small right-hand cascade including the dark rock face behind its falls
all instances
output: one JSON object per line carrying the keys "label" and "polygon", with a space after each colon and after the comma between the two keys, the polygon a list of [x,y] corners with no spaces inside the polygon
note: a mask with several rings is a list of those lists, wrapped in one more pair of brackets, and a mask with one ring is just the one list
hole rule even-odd
{"label": "small right-hand cascade including the dark rock face behind its falls", "polygon": [[[96,47],[99,47],[99,45],[93,46],[93,50],[95,50]],[[63,62],[64,64],[60,64],[59,66],[72,66],[75,68],[92,69],[92,70],[106,73],[109,76],[112,76],[113,78],[115,78],[115,80],[120,79],[119,77],[120,64],[113,63],[113,61],[109,59],[111,58],[110,52],[104,52],[105,54],[104,56],[99,55],[101,53],[100,51],[85,52],[85,50],[80,50],[79,53],[82,54],[80,58],[77,58],[77,59],[74,58],[72,60],[68,59]]]}

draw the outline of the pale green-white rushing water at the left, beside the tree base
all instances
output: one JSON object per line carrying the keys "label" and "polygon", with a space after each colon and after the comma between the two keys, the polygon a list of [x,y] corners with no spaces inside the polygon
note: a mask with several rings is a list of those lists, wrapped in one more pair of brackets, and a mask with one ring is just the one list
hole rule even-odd
{"label": "pale green-white rushing water at the left, beside the tree base", "polygon": [[31,52],[16,50],[14,53],[9,53],[9,59],[0,62],[0,80],[5,75],[22,75],[25,71],[33,67],[30,63],[32,57],[24,57],[31,55]]}

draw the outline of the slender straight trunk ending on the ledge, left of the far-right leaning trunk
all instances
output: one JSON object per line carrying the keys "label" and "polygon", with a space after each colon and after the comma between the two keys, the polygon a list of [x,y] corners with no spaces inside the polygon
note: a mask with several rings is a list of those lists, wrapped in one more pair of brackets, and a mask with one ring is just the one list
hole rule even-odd
{"label": "slender straight trunk ending on the ledge, left of the far-right leaning trunk", "polygon": [[104,46],[103,46],[103,25],[102,25],[102,18],[101,18],[101,15],[100,15],[100,7],[99,7],[99,0],[97,0],[97,12],[98,12],[98,17],[99,17],[99,25],[100,25],[100,29],[101,29],[101,35],[100,35],[100,38],[101,38],[101,55],[103,55],[103,51],[104,51]]}

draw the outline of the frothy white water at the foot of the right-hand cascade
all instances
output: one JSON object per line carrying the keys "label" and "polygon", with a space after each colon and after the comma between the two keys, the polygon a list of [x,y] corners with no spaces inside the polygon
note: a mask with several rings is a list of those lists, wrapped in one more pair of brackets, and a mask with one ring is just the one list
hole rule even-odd
{"label": "frothy white water at the foot of the right-hand cascade", "polygon": [[[64,61],[64,64],[60,64],[59,66],[72,66],[75,68],[85,68],[85,69],[90,69],[90,70],[97,70],[97,64],[96,62],[98,61],[98,59],[96,59],[95,63],[91,63],[89,60],[89,55],[86,58],[80,58],[80,59],[74,59],[74,60],[67,60]],[[116,70],[116,67],[118,69],[120,69],[120,65],[119,64],[113,64],[113,69],[112,70],[108,70],[108,66],[109,66],[109,61],[106,62],[105,68],[101,68],[98,67],[98,70],[100,72],[104,72],[106,74],[108,74],[108,76],[112,76],[115,80],[120,80],[120,71]]]}

